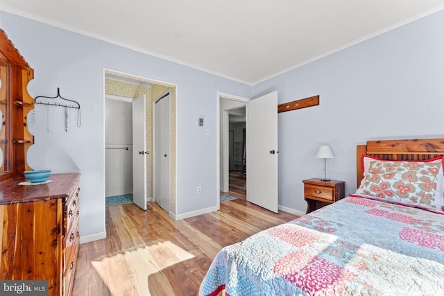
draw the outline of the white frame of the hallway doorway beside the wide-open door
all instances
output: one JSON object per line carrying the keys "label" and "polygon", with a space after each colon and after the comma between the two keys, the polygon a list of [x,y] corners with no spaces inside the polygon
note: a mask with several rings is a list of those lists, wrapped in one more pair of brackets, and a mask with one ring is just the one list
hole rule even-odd
{"label": "white frame of the hallway doorway beside the wide-open door", "polygon": [[[228,100],[237,101],[245,103],[246,108],[246,119],[248,116],[248,102],[251,101],[251,98],[245,98],[243,96],[236,96],[234,94],[226,94],[223,92],[217,92],[216,95],[216,208],[219,211],[221,209],[221,98],[226,98]],[[230,109],[237,109],[238,107],[230,108]],[[225,116],[225,119],[228,119],[228,111],[230,109],[223,110],[223,116]],[[245,130],[248,137],[248,125],[245,123]],[[222,142],[223,142],[223,159],[228,160],[229,157],[229,143],[228,143],[228,129],[224,130],[225,132],[222,135]],[[248,147],[247,147],[248,150]],[[226,165],[229,166],[228,162],[225,161]],[[228,177],[230,175],[230,170],[225,170],[225,179],[228,180]],[[246,186],[248,187],[248,178],[246,182]]]}

